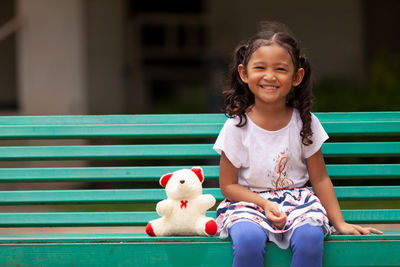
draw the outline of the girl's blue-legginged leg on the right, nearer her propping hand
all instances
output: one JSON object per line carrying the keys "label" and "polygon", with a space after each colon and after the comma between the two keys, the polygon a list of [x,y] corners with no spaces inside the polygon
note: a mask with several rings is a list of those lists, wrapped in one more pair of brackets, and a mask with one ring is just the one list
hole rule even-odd
{"label": "girl's blue-legginged leg on the right, nearer her propping hand", "polygon": [[324,230],[322,226],[305,224],[296,228],[290,239],[293,252],[291,267],[321,267],[324,254]]}

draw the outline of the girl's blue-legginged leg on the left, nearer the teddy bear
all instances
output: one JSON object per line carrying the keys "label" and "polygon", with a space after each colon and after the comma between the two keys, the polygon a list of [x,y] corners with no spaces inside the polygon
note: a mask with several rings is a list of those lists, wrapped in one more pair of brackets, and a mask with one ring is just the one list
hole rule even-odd
{"label": "girl's blue-legginged leg on the left, nearer the teddy bear", "polygon": [[229,235],[233,242],[234,267],[264,266],[267,233],[251,221],[240,221],[232,225]]}

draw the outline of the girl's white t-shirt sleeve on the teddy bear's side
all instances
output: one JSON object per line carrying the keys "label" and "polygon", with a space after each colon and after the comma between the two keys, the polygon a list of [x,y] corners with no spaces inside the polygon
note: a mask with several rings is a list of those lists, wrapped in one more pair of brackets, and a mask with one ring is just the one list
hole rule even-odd
{"label": "girl's white t-shirt sleeve on the teddy bear's side", "polygon": [[242,129],[236,126],[236,119],[228,119],[218,135],[213,149],[218,153],[226,155],[236,168],[243,167],[246,162],[246,153],[242,142]]}

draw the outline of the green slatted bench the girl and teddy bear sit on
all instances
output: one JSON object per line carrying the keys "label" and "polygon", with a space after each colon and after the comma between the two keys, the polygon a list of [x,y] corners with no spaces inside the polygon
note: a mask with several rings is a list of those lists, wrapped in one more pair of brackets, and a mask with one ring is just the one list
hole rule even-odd
{"label": "green slatted bench the girl and teddy bear sit on", "polygon": [[[331,136],[322,149],[346,220],[399,224],[400,112],[316,115]],[[218,237],[7,232],[144,229],[166,197],[159,178],[196,165],[205,173],[204,193],[221,201],[212,145],[225,120],[223,114],[0,117],[4,186],[79,182],[78,189],[0,191],[0,266],[231,266],[231,241]],[[17,167],[30,161],[31,167]],[[20,211],[24,205],[29,212]],[[45,210],[35,210],[40,206]],[[215,209],[208,213],[215,216]],[[399,252],[399,227],[383,235],[329,236],[324,266],[400,266]],[[268,243],[266,266],[289,266],[290,255]]]}

